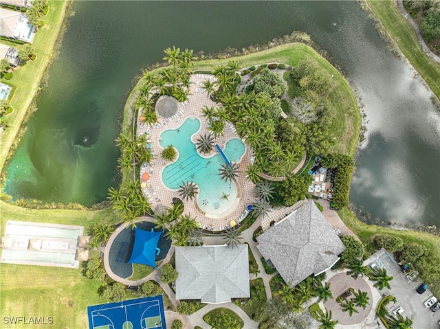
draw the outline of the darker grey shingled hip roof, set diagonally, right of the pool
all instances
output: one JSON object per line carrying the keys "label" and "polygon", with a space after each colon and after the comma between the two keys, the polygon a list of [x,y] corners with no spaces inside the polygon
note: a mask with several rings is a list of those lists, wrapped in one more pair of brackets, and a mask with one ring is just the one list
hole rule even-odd
{"label": "darker grey shingled hip roof, set diagonally, right of the pool", "polygon": [[256,240],[263,257],[272,261],[290,286],[326,271],[345,250],[314,201],[296,209]]}

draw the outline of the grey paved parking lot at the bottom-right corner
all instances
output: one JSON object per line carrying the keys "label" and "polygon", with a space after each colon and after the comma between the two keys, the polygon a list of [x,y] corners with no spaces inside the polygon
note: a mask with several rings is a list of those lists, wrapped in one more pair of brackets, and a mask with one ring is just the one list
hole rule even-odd
{"label": "grey paved parking lot at the bottom-right corner", "polygon": [[[437,321],[440,320],[440,310],[433,313],[430,308],[423,305],[432,293],[425,291],[421,295],[415,289],[422,284],[419,278],[408,282],[406,274],[404,274],[400,266],[393,260],[393,256],[386,251],[377,251],[364,264],[375,262],[377,266],[384,267],[388,275],[392,275],[394,279],[390,282],[391,289],[384,288],[380,293],[382,295],[391,294],[396,297],[397,303],[404,308],[404,317],[412,319],[412,328],[414,329],[438,329]],[[437,296],[440,297],[440,296]],[[396,305],[397,307],[397,305]]]}

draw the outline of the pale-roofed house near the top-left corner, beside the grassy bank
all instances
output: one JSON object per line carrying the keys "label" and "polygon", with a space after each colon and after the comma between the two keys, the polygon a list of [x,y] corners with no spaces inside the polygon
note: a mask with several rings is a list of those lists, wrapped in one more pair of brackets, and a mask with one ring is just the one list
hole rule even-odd
{"label": "pale-roofed house near the top-left corner, beside the grassy bank", "polygon": [[8,38],[32,43],[35,26],[29,23],[28,15],[0,8],[0,33]]}

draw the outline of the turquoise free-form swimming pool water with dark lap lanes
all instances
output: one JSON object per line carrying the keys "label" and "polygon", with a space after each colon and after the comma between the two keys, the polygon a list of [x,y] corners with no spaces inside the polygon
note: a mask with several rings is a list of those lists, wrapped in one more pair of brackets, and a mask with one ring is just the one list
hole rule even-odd
{"label": "turquoise free-form swimming pool water with dark lap lanes", "polygon": [[[204,158],[197,152],[191,136],[199,131],[200,125],[197,118],[190,117],[179,128],[164,131],[160,135],[162,147],[173,145],[179,151],[177,161],[162,171],[162,181],[171,190],[178,190],[183,182],[193,181],[199,186],[197,203],[200,209],[207,216],[226,216],[238,204],[236,186],[219,176],[221,164],[225,163],[221,155]],[[229,161],[239,162],[245,154],[245,144],[238,138],[232,138],[223,152]],[[228,195],[228,199],[221,198],[223,193]]]}

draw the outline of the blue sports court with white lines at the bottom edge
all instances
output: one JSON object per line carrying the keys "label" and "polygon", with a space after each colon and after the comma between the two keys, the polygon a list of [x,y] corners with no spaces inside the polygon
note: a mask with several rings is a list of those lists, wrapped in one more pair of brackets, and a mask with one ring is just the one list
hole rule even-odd
{"label": "blue sports court with white lines at the bottom edge", "polygon": [[166,329],[162,296],[87,307],[89,329]]}

